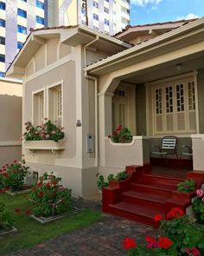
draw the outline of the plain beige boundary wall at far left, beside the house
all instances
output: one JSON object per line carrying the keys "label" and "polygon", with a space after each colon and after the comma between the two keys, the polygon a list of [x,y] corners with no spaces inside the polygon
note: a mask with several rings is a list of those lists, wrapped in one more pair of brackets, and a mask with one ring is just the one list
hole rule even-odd
{"label": "plain beige boundary wall at far left, beside the house", "polygon": [[0,167],[21,160],[22,83],[0,79]]}

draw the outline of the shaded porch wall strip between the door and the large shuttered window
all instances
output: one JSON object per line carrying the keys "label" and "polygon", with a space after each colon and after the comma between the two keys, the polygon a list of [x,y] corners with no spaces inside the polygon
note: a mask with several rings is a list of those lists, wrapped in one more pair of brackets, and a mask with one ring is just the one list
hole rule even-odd
{"label": "shaded porch wall strip between the door and the large shuttered window", "polygon": [[136,112],[137,135],[147,135],[146,92],[144,84],[139,84],[136,86]]}

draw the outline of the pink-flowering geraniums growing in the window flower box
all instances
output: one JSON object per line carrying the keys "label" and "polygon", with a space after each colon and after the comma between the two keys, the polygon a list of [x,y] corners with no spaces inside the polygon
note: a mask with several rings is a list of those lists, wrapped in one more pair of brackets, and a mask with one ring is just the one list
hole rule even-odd
{"label": "pink-flowering geraniums growing in the window flower box", "polygon": [[25,141],[59,141],[64,138],[62,127],[58,127],[52,121],[45,118],[45,123],[41,126],[34,127],[30,121],[25,123],[26,132],[22,135]]}

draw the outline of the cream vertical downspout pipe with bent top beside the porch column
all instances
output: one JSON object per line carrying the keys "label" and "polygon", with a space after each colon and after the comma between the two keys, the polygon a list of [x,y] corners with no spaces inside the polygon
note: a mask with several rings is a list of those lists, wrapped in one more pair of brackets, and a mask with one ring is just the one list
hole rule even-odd
{"label": "cream vertical downspout pipe with bent top beside the porch column", "polygon": [[99,166],[99,139],[98,139],[98,79],[95,76],[88,75],[87,71],[85,71],[86,79],[92,80],[94,82],[95,88],[95,166]]}

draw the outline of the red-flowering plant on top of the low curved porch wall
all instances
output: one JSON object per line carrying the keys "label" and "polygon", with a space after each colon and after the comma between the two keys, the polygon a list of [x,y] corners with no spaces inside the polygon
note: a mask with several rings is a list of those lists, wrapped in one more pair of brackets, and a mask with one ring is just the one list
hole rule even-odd
{"label": "red-flowering plant on top of the low curved porch wall", "polygon": [[123,128],[122,125],[118,125],[113,135],[109,135],[108,138],[114,143],[130,143],[132,141],[131,131],[128,128]]}

